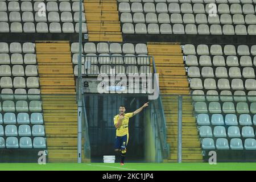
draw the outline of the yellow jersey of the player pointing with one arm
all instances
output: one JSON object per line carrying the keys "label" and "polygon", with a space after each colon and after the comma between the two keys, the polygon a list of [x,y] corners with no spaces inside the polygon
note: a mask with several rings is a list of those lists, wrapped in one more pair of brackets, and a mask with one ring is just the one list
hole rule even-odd
{"label": "yellow jersey of the player pointing with one arm", "polygon": [[[122,137],[126,134],[128,134],[128,124],[129,124],[129,118],[133,117],[133,113],[126,113],[125,117],[123,118],[123,122],[121,127],[119,127],[119,129],[117,129],[117,136],[118,137]],[[114,125],[118,122],[119,119],[119,114],[115,115],[114,117]]]}

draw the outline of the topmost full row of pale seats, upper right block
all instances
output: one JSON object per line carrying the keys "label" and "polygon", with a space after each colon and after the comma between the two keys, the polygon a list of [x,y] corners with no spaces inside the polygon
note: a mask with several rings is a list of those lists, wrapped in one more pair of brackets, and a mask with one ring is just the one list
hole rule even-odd
{"label": "topmost full row of pale seats, upper right block", "polygon": [[[217,6],[216,6],[217,7]],[[212,5],[207,4],[204,6],[203,3],[195,3],[192,7],[191,3],[140,3],[140,2],[121,2],[118,5],[118,11],[123,12],[133,12],[133,13],[210,13],[212,9]],[[225,13],[225,14],[254,14],[256,11],[253,5],[246,4],[233,4],[229,5],[221,3],[217,7],[218,13]],[[216,12],[216,13],[217,13]]]}

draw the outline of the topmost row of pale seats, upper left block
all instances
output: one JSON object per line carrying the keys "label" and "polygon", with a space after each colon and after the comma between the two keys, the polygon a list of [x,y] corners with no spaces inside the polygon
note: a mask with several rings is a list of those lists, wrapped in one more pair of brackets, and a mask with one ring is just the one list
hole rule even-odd
{"label": "topmost row of pale seats, upper left block", "polygon": [[[70,2],[60,2],[58,6],[57,2],[38,1],[34,2],[33,5],[31,1],[22,3],[0,1],[0,11],[40,11],[42,7],[46,7],[46,11],[79,11],[79,2],[73,2],[72,8]],[[82,11],[84,11],[84,6],[82,6]]]}

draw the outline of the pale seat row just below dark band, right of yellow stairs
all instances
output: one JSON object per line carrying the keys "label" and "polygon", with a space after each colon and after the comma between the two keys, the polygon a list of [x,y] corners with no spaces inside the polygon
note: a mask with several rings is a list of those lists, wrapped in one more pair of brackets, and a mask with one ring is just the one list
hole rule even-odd
{"label": "pale seat row just below dark band, right of yellow stairs", "polygon": [[[209,51],[210,49],[210,51]],[[185,55],[256,55],[256,45],[253,45],[249,48],[247,45],[239,45],[237,48],[234,45],[225,45],[223,52],[220,45],[207,46],[205,44],[200,44],[195,48],[192,44],[185,44],[183,53]]]}

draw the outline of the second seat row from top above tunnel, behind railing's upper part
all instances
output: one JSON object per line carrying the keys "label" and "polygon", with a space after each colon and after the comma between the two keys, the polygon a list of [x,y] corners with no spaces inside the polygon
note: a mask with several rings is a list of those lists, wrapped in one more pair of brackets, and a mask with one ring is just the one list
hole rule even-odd
{"label": "second seat row from top above tunnel, behind railing's upper part", "polygon": [[[150,57],[146,54],[140,54],[137,56],[133,54],[126,54],[123,57],[121,54],[113,53],[111,56],[107,53],[100,53],[97,57],[96,53],[87,53],[86,57],[82,57],[82,64],[89,62],[90,64],[150,64]],[[104,57],[105,56],[105,57]],[[78,53],[74,53],[72,56],[73,64],[78,64]]]}

